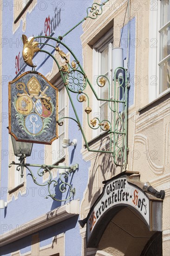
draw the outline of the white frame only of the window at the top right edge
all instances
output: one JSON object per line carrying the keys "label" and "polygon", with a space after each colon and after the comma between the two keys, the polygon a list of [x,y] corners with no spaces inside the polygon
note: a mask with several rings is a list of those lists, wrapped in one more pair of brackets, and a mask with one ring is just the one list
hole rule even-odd
{"label": "white frame only of the window at the top right edge", "polygon": [[[157,4],[157,5],[156,5]],[[153,8],[154,7],[154,8]],[[159,65],[170,58],[168,55],[162,61],[159,61],[160,56],[160,15],[161,15],[161,0],[150,0],[150,20],[149,20],[149,102],[161,97],[170,91],[170,88],[166,89],[162,93],[159,93]],[[170,23],[170,22],[168,22]],[[165,27],[165,24],[163,27]],[[156,65],[154,64],[156,63]]]}

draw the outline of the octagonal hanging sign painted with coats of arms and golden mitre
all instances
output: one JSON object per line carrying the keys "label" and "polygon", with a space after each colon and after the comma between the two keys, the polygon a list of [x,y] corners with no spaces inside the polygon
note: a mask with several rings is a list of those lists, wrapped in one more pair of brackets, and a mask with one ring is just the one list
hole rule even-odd
{"label": "octagonal hanging sign painted with coats of arms and golden mitre", "polygon": [[58,138],[58,89],[28,71],[9,82],[9,133],[16,141],[51,144]]}

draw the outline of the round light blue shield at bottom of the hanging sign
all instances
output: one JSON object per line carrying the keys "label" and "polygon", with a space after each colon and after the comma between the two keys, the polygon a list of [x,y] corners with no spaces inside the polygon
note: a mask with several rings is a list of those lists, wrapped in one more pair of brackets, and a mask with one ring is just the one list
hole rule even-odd
{"label": "round light blue shield at bottom of the hanging sign", "polygon": [[27,115],[25,119],[25,128],[30,134],[38,135],[43,128],[42,118],[35,113]]}

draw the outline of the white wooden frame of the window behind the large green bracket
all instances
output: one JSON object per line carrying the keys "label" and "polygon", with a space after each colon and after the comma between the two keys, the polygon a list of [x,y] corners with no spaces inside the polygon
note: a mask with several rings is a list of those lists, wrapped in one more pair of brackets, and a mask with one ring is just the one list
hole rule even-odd
{"label": "white wooden frame of the window behind the large green bracket", "polygon": [[[100,70],[101,70],[101,52],[105,49],[105,47],[108,47],[108,78],[110,80],[111,83],[111,88],[112,88],[112,62],[111,62],[111,56],[112,56],[112,47],[113,47],[113,27],[103,36],[101,37],[94,45],[93,45],[93,52],[92,52],[92,74],[93,74],[93,81],[92,84],[94,85],[94,89],[96,90],[98,97],[100,98],[100,91],[102,90],[102,88],[100,88],[97,83],[96,83],[96,78],[99,75],[105,75],[105,74],[101,74]],[[112,89],[111,89],[112,92]],[[111,93],[111,99],[113,96],[113,92]],[[105,104],[107,104],[107,101],[103,101],[100,102],[98,101],[98,104],[96,104],[96,97],[93,94],[93,115],[94,117],[99,117],[100,118],[100,108],[102,106],[104,106]],[[99,115],[98,115],[99,113]],[[111,110],[108,106],[108,116],[105,116],[105,119],[108,119],[108,117],[111,117]],[[104,117],[101,117],[101,119],[103,120]],[[111,118],[110,118],[111,119]],[[111,120],[110,120],[111,121]],[[104,131],[100,128],[92,131],[92,137],[96,137],[98,135],[101,135]]]}

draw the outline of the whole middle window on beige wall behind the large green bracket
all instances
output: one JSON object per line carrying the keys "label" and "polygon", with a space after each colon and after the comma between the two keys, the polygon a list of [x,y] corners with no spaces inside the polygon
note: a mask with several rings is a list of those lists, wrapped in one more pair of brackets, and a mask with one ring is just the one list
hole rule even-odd
{"label": "whole middle window on beige wall behind the large green bracket", "polygon": [[[104,37],[102,37],[98,42],[93,46],[93,77],[94,77],[94,87],[98,93],[98,97],[101,99],[112,99],[112,86],[108,90],[108,82],[105,83],[105,86],[100,88],[96,83],[96,79],[99,75],[106,76],[110,84],[112,85],[112,69],[111,69],[111,51],[113,45],[113,29],[109,30]],[[95,101],[94,101],[95,102]],[[111,111],[109,109],[108,101],[98,101],[98,104],[93,106],[94,117],[98,117],[102,120],[111,121]],[[101,129],[98,129],[98,134],[103,132]],[[97,135],[97,134],[96,134]]]}

